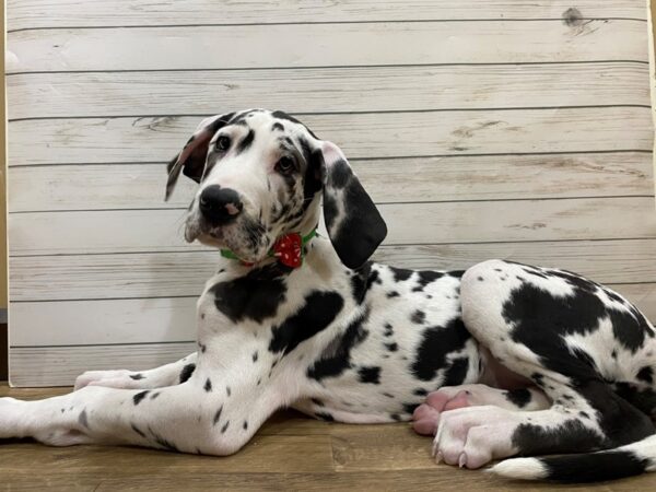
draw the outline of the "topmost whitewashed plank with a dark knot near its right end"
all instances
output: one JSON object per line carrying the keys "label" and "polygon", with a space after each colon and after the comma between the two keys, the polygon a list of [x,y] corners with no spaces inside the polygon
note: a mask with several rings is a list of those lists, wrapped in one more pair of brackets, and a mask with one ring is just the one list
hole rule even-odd
{"label": "topmost whitewashed plank with a dark knot near its right end", "polygon": [[[9,0],[8,28],[239,24],[274,22],[362,22],[431,20],[570,19],[575,7],[583,19],[646,19],[640,0]],[[47,15],[44,15],[47,12]]]}

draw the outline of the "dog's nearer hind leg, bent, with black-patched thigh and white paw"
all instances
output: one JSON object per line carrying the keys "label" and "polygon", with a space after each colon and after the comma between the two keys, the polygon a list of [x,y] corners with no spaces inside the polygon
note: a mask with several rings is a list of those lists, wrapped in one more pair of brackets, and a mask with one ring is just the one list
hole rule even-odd
{"label": "dog's nearer hind leg, bent, with black-patched thigh and white paw", "polygon": [[[538,280],[527,280],[531,274]],[[602,375],[599,367],[604,367],[607,355],[594,351],[617,344],[617,330],[633,330],[630,342],[635,343],[640,333],[644,337],[633,355],[644,358],[642,351],[651,350],[652,339],[646,335],[651,327],[639,312],[619,302],[612,312],[604,312],[608,292],[596,284],[581,278],[565,281],[558,271],[534,272],[503,261],[469,269],[462,277],[461,292],[462,318],[473,337],[507,368],[530,377],[553,406],[535,412],[496,407],[444,412],[435,453],[446,462],[476,468],[516,454],[604,449],[654,433],[648,417],[616,395],[606,382],[619,377],[622,367],[610,364]],[[624,312],[628,317],[622,320],[628,319],[626,324],[611,325],[610,316]],[[565,323],[571,331],[562,331]],[[585,336],[597,337],[588,339],[589,352],[576,337],[572,344],[565,342],[565,336],[578,333],[579,326],[589,326]]]}

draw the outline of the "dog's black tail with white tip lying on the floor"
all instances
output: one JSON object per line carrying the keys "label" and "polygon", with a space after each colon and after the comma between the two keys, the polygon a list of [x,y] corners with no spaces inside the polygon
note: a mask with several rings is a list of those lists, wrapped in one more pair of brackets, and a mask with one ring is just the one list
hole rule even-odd
{"label": "dog's black tail with white tip lying on the floor", "polygon": [[614,449],[544,458],[513,458],[490,469],[520,480],[582,483],[614,480],[656,471],[656,434]]}

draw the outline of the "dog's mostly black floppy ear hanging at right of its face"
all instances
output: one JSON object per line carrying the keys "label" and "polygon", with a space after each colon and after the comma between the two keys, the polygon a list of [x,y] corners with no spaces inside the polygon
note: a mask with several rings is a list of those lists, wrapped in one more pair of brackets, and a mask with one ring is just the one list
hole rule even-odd
{"label": "dog's mostly black floppy ear hanging at right of its face", "polygon": [[342,263],[359,268],[385,239],[387,226],[342,151],[327,141],[320,149],[328,236]]}

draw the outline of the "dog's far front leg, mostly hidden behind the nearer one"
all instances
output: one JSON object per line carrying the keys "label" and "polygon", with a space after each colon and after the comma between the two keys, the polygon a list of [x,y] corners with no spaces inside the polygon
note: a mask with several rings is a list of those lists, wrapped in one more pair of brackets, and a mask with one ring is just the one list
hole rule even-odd
{"label": "dog's far front leg, mostly hidden behind the nearer one", "polygon": [[106,386],[125,389],[152,389],[186,382],[196,368],[196,352],[177,362],[149,371],[87,371],[75,379],[75,389]]}

